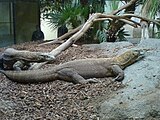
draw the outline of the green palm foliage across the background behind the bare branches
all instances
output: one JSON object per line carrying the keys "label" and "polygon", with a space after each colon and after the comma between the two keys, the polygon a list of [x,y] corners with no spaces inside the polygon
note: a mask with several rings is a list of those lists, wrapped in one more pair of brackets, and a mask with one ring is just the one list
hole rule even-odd
{"label": "green palm foliage across the background behind the bare branches", "polygon": [[[77,2],[74,2],[77,1]],[[103,13],[105,10],[105,1],[107,0],[41,0],[41,13],[44,19],[47,19],[49,25],[55,29],[63,25],[68,28],[76,28],[84,24],[89,15],[95,12]],[[110,0],[109,0],[110,1]],[[119,3],[126,4],[130,0],[112,0],[108,7],[111,11],[118,9]],[[139,0],[135,7],[142,5],[142,16],[155,19],[157,12],[160,12],[159,0]],[[113,27],[111,21],[97,22],[83,36],[82,39],[88,42],[104,42],[111,37],[118,40],[126,40],[125,36],[129,36],[128,32],[123,28],[123,24],[111,36],[109,33]],[[158,27],[158,26],[157,26]],[[159,27],[158,27],[159,29]],[[155,36],[160,36],[159,32]]]}

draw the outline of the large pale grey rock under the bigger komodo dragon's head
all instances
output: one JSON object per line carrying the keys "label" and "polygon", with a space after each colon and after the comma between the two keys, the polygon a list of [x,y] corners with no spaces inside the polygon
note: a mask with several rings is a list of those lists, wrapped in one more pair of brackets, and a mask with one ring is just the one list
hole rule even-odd
{"label": "large pale grey rock under the bigger komodo dragon's head", "polygon": [[125,87],[100,104],[100,120],[160,119],[160,40],[142,41],[145,58],[125,69]]}

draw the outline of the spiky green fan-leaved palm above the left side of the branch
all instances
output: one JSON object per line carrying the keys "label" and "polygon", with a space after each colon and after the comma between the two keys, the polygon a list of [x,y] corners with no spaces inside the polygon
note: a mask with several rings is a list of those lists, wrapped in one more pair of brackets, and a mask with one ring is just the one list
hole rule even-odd
{"label": "spiky green fan-leaved palm above the left side of the branch", "polygon": [[63,7],[59,7],[58,10],[53,9],[53,11],[47,13],[46,18],[49,19],[50,26],[53,28],[57,28],[64,24],[71,25],[75,28],[85,22],[87,15],[87,7],[65,4]]}

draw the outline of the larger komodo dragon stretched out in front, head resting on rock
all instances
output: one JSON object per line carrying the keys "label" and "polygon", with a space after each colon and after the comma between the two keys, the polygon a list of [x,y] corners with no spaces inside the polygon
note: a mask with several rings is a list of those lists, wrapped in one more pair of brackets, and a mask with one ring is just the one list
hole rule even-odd
{"label": "larger komodo dragon stretched out in front, head resting on rock", "polygon": [[122,81],[122,69],[142,58],[140,50],[129,50],[113,58],[81,59],[66,62],[49,69],[28,71],[3,71],[12,81],[19,83],[38,83],[53,80],[64,80],[73,83],[97,82],[87,78],[103,78],[115,76],[116,81]]}

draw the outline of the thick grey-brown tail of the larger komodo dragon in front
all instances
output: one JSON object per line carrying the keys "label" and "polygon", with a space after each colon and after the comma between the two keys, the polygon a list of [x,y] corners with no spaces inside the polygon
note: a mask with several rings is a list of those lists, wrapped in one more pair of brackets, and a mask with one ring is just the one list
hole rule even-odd
{"label": "thick grey-brown tail of the larger komodo dragon in front", "polygon": [[[0,70],[8,79],[18,83],[42,83],[57,79],[57,74],[51,70],[28,70],[28,71],[4,71]],[[36,74],[35,74],[36,73]]]}

